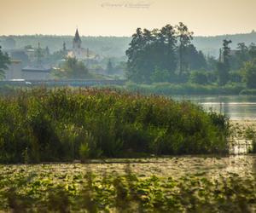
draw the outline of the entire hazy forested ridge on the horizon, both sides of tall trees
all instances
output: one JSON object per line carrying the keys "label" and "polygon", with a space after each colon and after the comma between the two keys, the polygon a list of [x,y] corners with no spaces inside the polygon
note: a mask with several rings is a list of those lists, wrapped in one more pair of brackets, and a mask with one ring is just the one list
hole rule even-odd
{"label": "entire hazy forested ridge on the horizon, both sides of tall trees", "polygon": [[[67,49],[72,48],[73,36],[9,36],[15,40],[15,49],[24,48],[27,45],[37,47],[38,43],[41,47],[49,47],[51,53],[62,49],[65,42]],[[11,49],[6,36],[0,36],[0,45],[3,49]],[[125,50],[128,49],[131,43],[131,37],[81,37],[82,46],[94,51],[96,54],[106,57],[123,57]],[[201,50],[205,55],[212,55],[218,57],[219,49],[222,47],[224,39],[232,40],[230,44],[231,49],[236,49],[237,43],[256,43],[256,32],[235,34],[235,35],[221,35],[215,37],[194,37],[192,43],[198,50]]]}

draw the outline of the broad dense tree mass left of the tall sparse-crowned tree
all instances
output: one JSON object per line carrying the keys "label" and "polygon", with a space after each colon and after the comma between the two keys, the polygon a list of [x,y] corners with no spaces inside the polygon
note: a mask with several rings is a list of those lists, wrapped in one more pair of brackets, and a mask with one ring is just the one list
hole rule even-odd
{"label": "broad dense tree mass left of the tall sparse-crowned tree", "polygon": [[174,27],[166,25],[153,31],[137,28],[126,50],[127,77],[135,82],[149,83],[156,66],[174,73],[177,67],[176,49]]}

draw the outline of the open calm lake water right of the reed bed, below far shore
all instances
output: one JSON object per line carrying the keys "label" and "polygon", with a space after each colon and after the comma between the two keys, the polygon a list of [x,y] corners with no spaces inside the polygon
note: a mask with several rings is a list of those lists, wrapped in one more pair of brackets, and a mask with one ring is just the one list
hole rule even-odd
{"label": "open calm lake water right of the reed bed, below far shore", "polygon": [[207,111],[212,109],[223,113],[231,120],[256,120],[256,95],[189,95],[172,98],[195,102]]}

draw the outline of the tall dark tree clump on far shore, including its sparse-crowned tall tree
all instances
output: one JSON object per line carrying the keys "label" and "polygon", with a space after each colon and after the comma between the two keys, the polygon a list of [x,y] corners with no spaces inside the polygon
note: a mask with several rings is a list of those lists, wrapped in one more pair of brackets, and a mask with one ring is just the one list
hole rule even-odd
{"label": "tall dark tree clump on far shore, including its sparse-crowned tall tree", "polygon": [[128,78],[138,83],[184,82],[189,70],[207,68],[201,51],[191,43],[193,32],[179,23],[148,31],[137,28],[128,57]]}

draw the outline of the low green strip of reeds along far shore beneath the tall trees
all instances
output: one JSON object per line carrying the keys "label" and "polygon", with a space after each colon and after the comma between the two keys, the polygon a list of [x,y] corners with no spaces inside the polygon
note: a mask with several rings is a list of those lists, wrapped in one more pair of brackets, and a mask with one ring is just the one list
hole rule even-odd
{"label": "low green strip of reeds along far shore beneath the tall trees", "polygon": [[193,83],[126,83],[125,89],[132,92],[157,95],[239,95],[241,90],[245,89],[245,86],[241,84],[218,86]]}

